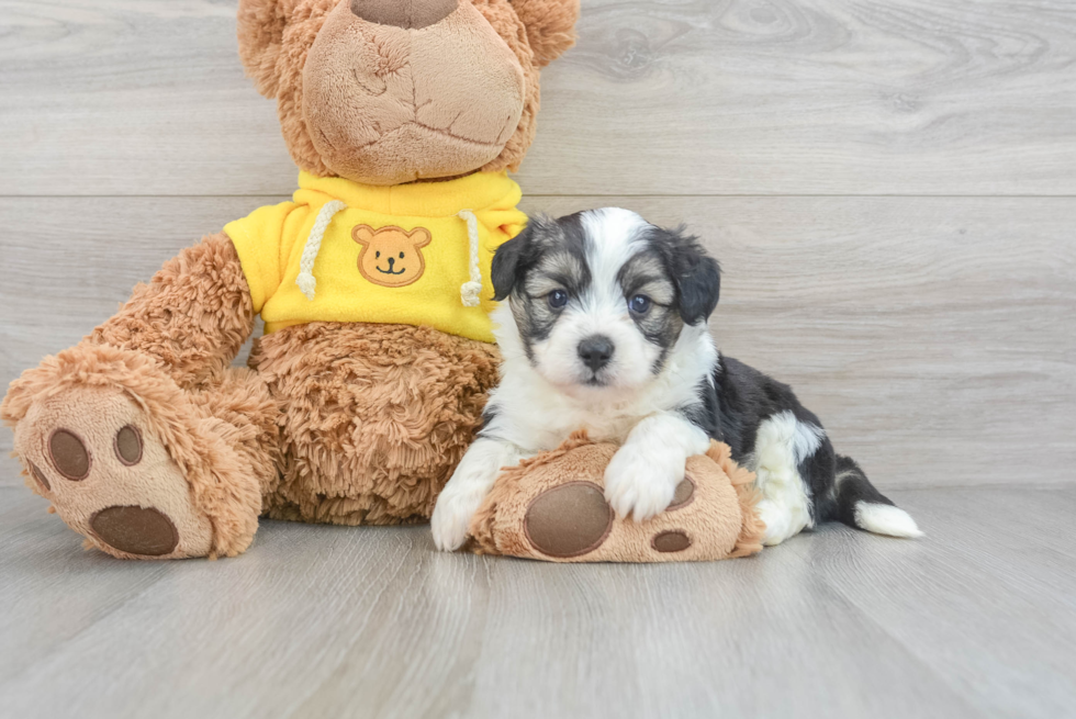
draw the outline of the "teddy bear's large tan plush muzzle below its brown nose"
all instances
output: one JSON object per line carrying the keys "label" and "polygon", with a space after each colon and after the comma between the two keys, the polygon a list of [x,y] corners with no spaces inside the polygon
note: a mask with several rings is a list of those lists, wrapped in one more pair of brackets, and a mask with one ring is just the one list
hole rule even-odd
{"label": "teddy bear's large tan plush muzzle below its brown nose", "polygon": [[421,30],[326,18],[303,68],[303,115],[333,173],[397,184],[494,160],[519,124],[524,71],[482,14],[461,2]]}

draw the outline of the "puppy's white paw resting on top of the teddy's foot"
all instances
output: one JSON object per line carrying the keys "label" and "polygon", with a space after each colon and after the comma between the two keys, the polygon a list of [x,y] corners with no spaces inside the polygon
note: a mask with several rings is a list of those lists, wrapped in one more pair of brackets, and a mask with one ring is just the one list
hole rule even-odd
{"label": "puppy's white paw resting on top of the teddy's foot", "polygon": [[646,521],[672,503],[684,479],[684,460],[625,445],[605,468],[605,498],[619,517]]}

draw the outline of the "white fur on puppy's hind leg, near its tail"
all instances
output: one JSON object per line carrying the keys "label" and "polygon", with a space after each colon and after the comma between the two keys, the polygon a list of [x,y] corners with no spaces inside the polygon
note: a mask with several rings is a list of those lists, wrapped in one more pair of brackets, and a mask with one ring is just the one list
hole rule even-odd
{"label": "white fur on puppy's hind leg, near its tail", "polygon": [[766,524],[764,544],[780,544],[814,525],[799,463],[818,449],[825,436],[821,427],[799,422],[788,411],[759,425],[747,464],[754,470],[755,486],[762,491],[758,509]]}

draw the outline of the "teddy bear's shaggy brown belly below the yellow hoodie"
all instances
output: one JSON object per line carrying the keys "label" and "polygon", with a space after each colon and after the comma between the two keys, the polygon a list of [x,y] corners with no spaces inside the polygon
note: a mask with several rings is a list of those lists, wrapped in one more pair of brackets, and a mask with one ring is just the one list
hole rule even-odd
{"label": "teddy bear's shaggy brown belly below the yellow hoodie", "polygon": [[494,345],[427,327],[310,323],[250,358],[280,402],[278,519],[401,524],[429,517],[496,383]]}

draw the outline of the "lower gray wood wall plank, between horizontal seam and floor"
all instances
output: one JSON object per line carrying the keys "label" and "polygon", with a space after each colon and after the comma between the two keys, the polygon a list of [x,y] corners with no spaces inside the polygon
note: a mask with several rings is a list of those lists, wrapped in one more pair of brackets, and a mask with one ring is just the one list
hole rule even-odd
{"label": "lower gray wood wall plank, between horizontal seam and floor", "polygon": [[[78,341],[202,233],[279,199],[0,198],[0,385]],[[703,236],[725,268],[719,346],[789,382],[878,486],[1071,481],[1076,201],[583,196],[525,209],[603,203]]]}

